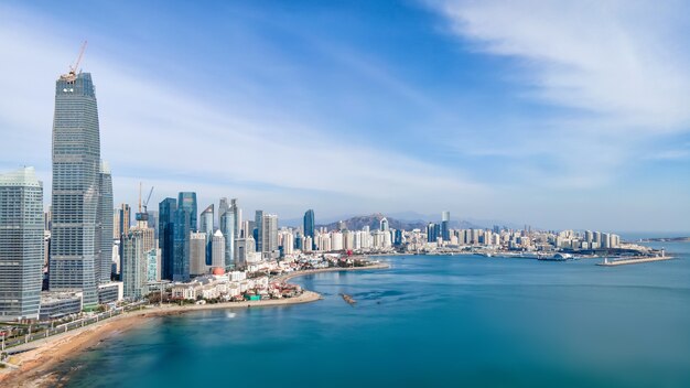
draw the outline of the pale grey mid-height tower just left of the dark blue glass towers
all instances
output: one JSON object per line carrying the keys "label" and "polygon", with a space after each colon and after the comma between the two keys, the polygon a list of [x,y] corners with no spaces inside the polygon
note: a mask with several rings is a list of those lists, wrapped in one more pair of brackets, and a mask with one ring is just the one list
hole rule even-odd
{"label": "pale grey mid-height tower just left of the dark blue glass towers", "polygon": [[149,260],[144,249],[144,229],[132,228],[122,236],[122,288],[123,297],[141,299],[148,282]]}

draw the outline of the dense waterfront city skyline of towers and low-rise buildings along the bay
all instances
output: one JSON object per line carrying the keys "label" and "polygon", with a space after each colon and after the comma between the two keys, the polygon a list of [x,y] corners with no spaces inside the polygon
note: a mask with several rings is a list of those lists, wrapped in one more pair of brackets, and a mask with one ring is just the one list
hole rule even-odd
{"label": "dense waterfront city skyline of towers and low-rise buildings along the bay", "polygon": [[[450,213],[424,230],[377,227],[335,230],[299,227],[256,211],[244,219],[237,200],[219,198],[198,214],[196,193],[181,192],[131,217],[114,211],[112,179],[101,160],[97,100],[89,73],[55,83],[52,205],[32,168],[0,174],[0,321],[51,320],[122,299],[166,292],[182,300],[283,298],[299,293],[269,282],[268,273],[338,265],[325,254],[433,251],[468,246],[498,249],[615,248],[603,233],[451,229]],[[149,194],[150,198],[150,194]],[[256,273],[267,276],[256,277]]]}

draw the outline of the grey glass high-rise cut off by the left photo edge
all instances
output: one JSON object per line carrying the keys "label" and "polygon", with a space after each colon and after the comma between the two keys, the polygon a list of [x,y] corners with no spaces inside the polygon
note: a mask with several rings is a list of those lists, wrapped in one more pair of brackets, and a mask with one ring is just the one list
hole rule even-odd
{"label": "grey glass high-rise cut off by the left photo edge", "polygon": [[39,319],[43,183],[33,168],[0,175],[0,321]]}

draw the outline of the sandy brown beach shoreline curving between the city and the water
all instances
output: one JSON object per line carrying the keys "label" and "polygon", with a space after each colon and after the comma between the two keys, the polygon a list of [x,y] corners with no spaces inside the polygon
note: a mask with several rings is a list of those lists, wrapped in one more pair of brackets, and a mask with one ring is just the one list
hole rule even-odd
{"label": "sandy brown beach shoreline curving between the city and the water", "polygon": [[[339,272],[354,270],[371,270],[390,268],[387,263],[377,263],[367,267],[323,268],[316,270],[295,271],[277,277],[272,281],[288,282],[291,279],[312,273]],[[54,387],[61,381],[56,368],[64,362],[77,356],[84,351],[98,346],[105,340],[125,333],[133,327],[149,322],[153,317],[180,315],[186,312],[205,310],[234,310],[263,306],[280,306],[301,303],[311,303],[321,299],[321,294],[304,290],[302,294],[288,299],[270,299],[262,301],[225,302],[215,304],[166,304],[161,306],[143,308],[122,315],[118,315],[96,324],[75,328],[64,334],[57,334],[45,340],[37,340],[24,345],[12,347],[20,352],[10,357],[10,363],[17,369],[0,369],[0,386],[8,387]]]}

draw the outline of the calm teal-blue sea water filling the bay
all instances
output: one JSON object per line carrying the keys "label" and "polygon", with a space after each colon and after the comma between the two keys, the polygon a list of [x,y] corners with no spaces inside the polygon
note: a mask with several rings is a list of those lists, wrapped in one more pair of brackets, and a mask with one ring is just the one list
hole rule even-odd
{"label": "calm teal-blue sea water filling the bay", "polygon": [[384,258],[295,280],[322,301],[155,319],[62,369],[69,387],[690,387],[690,245],[664,246],[681,259]]}

